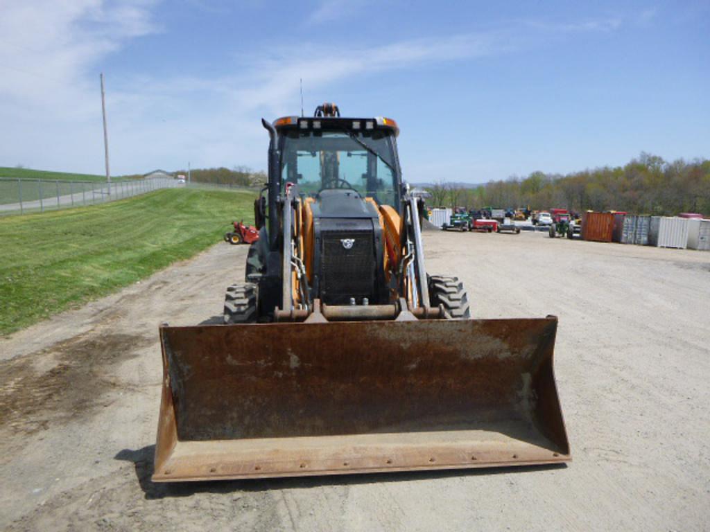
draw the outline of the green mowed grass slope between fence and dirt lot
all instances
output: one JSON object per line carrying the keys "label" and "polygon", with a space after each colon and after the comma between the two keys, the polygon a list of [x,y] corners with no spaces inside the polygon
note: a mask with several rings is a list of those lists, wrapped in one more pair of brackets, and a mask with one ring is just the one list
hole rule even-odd
{"label": "green mowed grass slope between fence and dirt lot", "polygon": [[168,189],[0,219],[0,334],[148,277],[253,218],[250,192]]}

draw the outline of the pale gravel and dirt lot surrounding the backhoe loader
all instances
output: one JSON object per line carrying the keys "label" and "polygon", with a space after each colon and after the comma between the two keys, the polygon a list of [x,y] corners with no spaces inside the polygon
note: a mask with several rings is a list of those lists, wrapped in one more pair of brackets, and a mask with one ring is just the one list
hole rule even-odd
{"label": "pale gravel and dirt lot surrounding the backhoe loader", "polygon": [[220,243],[0,340],[0,528],[710,527],[710,253],[542,234],[425,233],[425,247],[474,317],[559,316],[569,467],[152,484],[158,324],[219,315],[246,256]]}

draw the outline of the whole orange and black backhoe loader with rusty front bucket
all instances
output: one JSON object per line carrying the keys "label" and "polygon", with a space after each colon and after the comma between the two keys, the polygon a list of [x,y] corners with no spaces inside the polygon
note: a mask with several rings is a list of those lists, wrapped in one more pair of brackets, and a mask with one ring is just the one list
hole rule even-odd
{"label": "whole orange and black backhoe loader with rusty front bucket", "polygon": [[557,318],[471,319],[425,267],[391,118],[262,121],[268,184],[224,325],[160,328],[155,482],[571,459]]}

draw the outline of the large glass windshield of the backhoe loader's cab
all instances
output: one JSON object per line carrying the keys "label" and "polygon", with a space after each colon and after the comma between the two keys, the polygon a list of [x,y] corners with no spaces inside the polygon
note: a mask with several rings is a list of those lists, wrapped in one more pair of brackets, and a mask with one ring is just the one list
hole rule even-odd
{"label": "large glass windshield of the backhoe loader's cab", "polygon": [[302,194],[354,189],[381,205],[397,205],[393,138],[390,131],[288,131],[281,145],[281,186]]}

